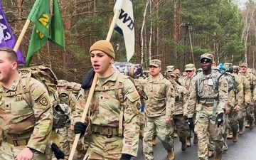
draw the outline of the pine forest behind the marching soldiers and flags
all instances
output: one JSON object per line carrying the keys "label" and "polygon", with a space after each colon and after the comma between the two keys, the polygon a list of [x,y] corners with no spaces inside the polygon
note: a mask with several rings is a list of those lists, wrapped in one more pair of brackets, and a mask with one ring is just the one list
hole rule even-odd
{"label": "pine forest behind the marching soldiers and flags", "polygon": [[[2,0],[6,18],[16,37],[32,9],[34,0]],[[59,79],[81,82],[90,65],[90,46],[107,37],[114,0],[60,0],[65,28],[65,50],[52,43],[33,56],[31,64],[53,69]],[[256,2],[240,8],[238,0],[134,0],[135,53],[130,62],[149,68],[149,60],[160,59],[162,70],[175,65],[183,71],[187,63],[200,64],[202,53],[213,53],[215,62],[256,68]],[[33,24],[20,49],[26,57]],[[116,61],[127,61],[124,38],[114,32],[110,40]],[[192,56],[194,55],[194,56]]]}

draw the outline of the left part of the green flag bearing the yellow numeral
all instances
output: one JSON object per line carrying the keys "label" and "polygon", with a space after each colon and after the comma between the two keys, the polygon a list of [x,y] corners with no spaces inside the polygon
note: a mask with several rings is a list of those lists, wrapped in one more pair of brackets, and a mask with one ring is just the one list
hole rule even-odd
{"label": "left part of the green flag bearing the yellow numeral", "polygon": [[50,35],[50,1],[36,0],[28,19],[35,23],[31,35],[31,41],[26,56],[26,67],[29,66],[32,56],[46,45]]}

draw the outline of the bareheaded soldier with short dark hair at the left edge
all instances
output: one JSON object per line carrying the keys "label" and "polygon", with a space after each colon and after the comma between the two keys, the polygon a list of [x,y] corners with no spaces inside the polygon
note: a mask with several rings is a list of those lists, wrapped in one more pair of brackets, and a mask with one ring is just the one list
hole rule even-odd
{"label": "bareheaded soldier with short dark hair at the left edge", "polygon": [[[0,55],[0,159],[50,160],[53,110],[48,91],[28,74],[18,73],[14,50],[0,48]],[[21,84],[23,80],[28,86]],[[24,87],[33,105],[23,99]]]}

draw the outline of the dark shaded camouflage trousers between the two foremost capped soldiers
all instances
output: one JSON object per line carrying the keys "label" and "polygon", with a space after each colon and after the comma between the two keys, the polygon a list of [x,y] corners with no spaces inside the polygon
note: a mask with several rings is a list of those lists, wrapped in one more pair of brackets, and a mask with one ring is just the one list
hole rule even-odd
{"label": "dark shaded camouflage trousers between the two foremost capped soldiers", "polygon": [[174,115],[174,127],[178,133],[179,141],[186,142],[186,139],[190,137],[189,127],[186,123],[183,114]]}

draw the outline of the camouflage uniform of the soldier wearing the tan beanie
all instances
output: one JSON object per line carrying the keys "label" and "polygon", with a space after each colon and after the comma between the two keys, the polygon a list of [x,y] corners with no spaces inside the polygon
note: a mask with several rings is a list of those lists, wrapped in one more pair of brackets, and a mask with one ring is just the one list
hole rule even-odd
{"label": "camouflage uniform of the soldier wearing the tan beanie", "polygon": [[[80,105],[85,101],[86,96]],[[139,93],[127,76],[115,71],[109,78],[99,78],[90,103],[89,148],[84,159],[137,156],[140,109]]]}

